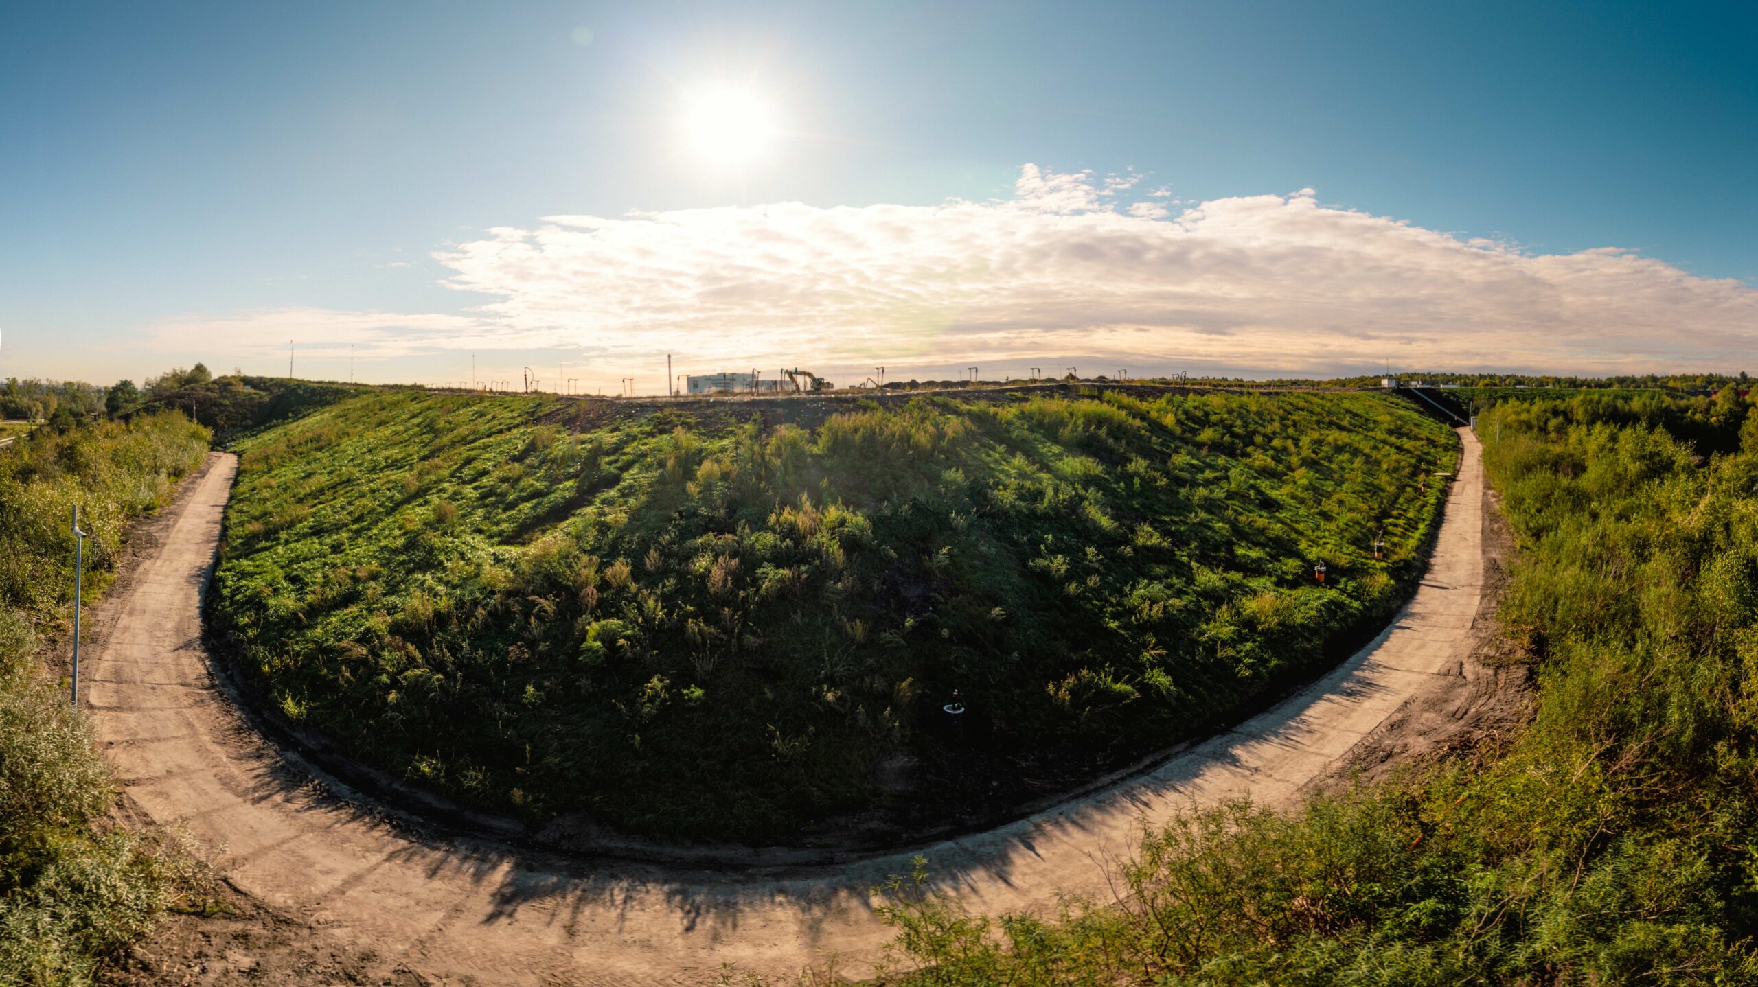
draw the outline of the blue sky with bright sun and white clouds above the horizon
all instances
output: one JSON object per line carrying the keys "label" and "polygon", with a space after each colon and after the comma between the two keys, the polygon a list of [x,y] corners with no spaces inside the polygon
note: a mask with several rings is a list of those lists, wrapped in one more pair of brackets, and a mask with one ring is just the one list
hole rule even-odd
{"label": "blue sky with bright sun and white clouds above the horizon", "polygon": [[1758,371],[1753,51],[1749,4],[5,4],[0,376]]}

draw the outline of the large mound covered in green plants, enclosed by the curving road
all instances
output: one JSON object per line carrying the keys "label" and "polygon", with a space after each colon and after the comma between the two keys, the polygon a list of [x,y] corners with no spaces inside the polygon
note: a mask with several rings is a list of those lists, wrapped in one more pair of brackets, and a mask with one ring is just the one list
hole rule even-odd
{"label": "large mound covered in green plants, enclosed by the curving road", "polygon": [[239,444],[216,616],[281,713],[475,804],[883,838],[1341,657],[1456,458],[1391,395],[1044,392],[353,397]]}

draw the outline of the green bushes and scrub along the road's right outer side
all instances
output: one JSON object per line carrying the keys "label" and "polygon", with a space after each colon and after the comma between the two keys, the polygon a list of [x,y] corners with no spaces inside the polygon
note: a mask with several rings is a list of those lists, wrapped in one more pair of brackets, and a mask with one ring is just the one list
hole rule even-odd
{"label": "green bushes and scrub along the road's right outer side", "polygon": [[[893,885],[895,985],[1758,982],[1758,414],[1733,392],[1478,423],[1536,718],[1424,776],[1143,841],[1123,904]],[[1686,439],[1688,436],[1688,439]]]}

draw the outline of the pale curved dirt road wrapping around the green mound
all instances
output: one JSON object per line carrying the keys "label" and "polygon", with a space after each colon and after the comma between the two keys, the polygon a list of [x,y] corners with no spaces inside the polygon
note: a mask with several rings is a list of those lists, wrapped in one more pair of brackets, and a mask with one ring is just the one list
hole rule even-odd
{"label": "pale curved dirt road wrapping around the green mound", "polygon": [[[1412,697],[1454,676],[1478,608],[1482,471],[1463,458],[1415,599],[1311,687],[1153,771],[999,829],[921,848],[935,880],[983,911],[1108,894],[1104,862],[1143,818],[1250,794],[1285,804]],[[890,940],[868,889],[914,852],[846,868],[691,871],[563,861],[420,836],[315,783],[246,727],[214,685],[200,594],[236,462],[216,457],[156,555],[113,601],[86,695],[127,796],[218,850],[230,882],[436,978],[478,983],[703,983],[721,964],[791,978],[837,957],[860,973]]]}

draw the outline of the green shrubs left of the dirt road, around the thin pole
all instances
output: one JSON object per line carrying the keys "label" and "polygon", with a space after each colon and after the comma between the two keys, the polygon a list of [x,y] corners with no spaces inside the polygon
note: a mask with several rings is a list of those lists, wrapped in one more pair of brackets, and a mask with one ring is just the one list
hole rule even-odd
{"label": "green shrubs left of the dirt road, around the thin pole", "polygon": [[111,824],[107,767],[35,655],[67,632],[72,506],[97,597],[128,520],[206,450],[204,429],[156,414],[39,429],[0,451],[0,983],[90,983],[178,901],[186,857]]}

